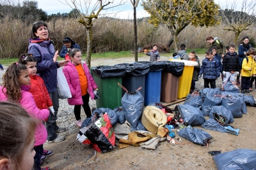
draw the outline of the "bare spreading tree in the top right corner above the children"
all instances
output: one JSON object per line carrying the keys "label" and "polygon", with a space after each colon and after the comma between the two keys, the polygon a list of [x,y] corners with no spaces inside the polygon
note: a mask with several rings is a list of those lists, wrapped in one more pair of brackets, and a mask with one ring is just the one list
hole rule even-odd
{"label": "bare spreading tree in the top right corner above the children", "polygon": [[[242,3],[241,8],[238,3]],[[256,24],[256,1],[227,1],[222,9],[219,11],[220,17],[216,19],[225,25],[223,30],[235,33],[234,43],[237,45],[239,34]]]}

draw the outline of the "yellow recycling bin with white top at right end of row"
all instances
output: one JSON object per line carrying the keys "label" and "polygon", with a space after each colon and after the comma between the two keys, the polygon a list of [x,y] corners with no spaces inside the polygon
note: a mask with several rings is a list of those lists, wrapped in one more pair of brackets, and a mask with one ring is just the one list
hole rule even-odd
{"label": "yellow recycling bin with white top at right end of row", "polygon": [[198,63],[189,60],[172,60],[172,62],[184,62],[185,65],[182,76],[179,78],[178,87],[178,99],[182,99],[190,92],[194,66],[197,66]]}

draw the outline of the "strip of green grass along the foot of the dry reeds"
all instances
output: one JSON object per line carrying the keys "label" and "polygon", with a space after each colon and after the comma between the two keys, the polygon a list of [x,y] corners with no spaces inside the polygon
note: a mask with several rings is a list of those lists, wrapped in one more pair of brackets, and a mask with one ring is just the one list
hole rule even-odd
{"label": "strip of green grass along the foot of the dry reeds", "polygon": [[[195,50],[197,55],[204,54],[206,49],[205,48],[196,48],[196,49],[187,49],[186,52],[189,53],[191,50]],[[164,55],[172,56],[173,53],[166,53]],[[160,54],[161,55],[161,54]],[[138,53],[138,57],[145,56],[145,53]],[[104,52],[104,53],[92,53],[92,59],[102,59],[102,58],[121,58],[121,57],[134,57],[134,53],[131,51],[122,51],[122,52]],[[83,60],[86,58],[86,53],[82,55]],[[3,65],[8,65],[13,62],[18,62],[19,59],[1,59],[0,63]],[[58,61],[63,60],[63,58],[58,57]]]}

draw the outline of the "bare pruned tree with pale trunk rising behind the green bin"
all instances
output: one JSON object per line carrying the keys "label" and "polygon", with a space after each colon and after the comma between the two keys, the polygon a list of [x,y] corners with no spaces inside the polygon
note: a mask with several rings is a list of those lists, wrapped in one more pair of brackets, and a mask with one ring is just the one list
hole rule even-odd
{"label": "bare pruned tree with pale trunk rising behind the green bin", "polygon": [[86,64],[88,65],[89,68],[91,66],[93,21],[99,17],[100,12],[102,10],[109,10],[110,8],[120,6],[126,2],[124,0],[119,0],[119,1],[120,3],[108,8],[107,6],[109,6],[109,4],[111,3],[114,3],[114,0],[112,1],[98,0],[96,3],[93,3],[93,0],[83,0],[83,2],[81,2],[81,0],[71,0],[71,3],[70,1],[65,0],[66,2],[65,4],[68,4],[73,10],[77,11],[77,13],[79,14],[79,22],[83,24],[86,29],[86,38],[87,38]]}

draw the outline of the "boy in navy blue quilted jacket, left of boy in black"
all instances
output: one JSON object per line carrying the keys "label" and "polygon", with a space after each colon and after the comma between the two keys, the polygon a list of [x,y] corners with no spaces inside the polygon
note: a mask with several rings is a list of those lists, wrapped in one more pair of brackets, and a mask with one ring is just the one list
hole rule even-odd
{"label": "boy in navy blue quilted jacket, left of boy in black", "polygon": [[204,88],[209,88],[209,83],[212,89],[216,88],[216,79],[220,77],[220,62],[212,56],[212,50],[208,49],[206,57],[202,61],[202,66],[199,73],[199,78],[204,74]]}

